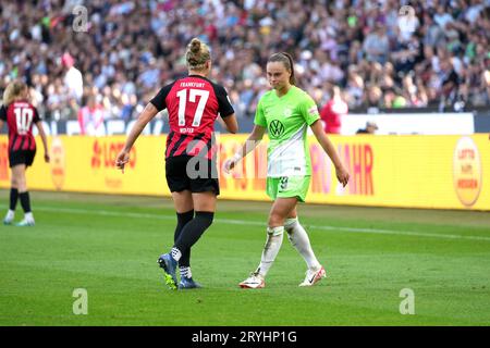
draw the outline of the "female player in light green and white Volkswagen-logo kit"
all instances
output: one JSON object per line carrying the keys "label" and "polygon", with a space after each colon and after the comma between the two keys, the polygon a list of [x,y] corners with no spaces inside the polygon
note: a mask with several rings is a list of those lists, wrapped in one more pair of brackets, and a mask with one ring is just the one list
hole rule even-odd
{"label": "female player in light green and white Volkswagen-logo kit", "polygon": [[269,58],[267,78],[272,89],[259,100],[254,129],[241,150],[223,164],[224,171],[230,172],[258,145],[266,129],[268,130],[270,142],[267,195],[273,203],[269,213],[267,241],[259,266],[240,283],[240,286],[265,286],[266,275],[281,248],[284,231],[308,265],[306,277],[299,286],[311,286],[326,276],[326,271],[315,257],[308,235],[299,224],[296,212],[297,202],[304,202],[306,199],[311,177],[306,139],[308,126],[335,165],[336,177],[344,187],[348,182],[348,173],[323,132],[315,101],[295,86],[294,62],[289,53],[275,53]]}

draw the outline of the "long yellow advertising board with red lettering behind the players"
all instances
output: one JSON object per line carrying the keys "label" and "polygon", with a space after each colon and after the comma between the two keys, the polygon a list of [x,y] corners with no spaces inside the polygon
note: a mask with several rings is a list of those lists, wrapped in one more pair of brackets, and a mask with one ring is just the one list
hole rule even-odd
{"label": "long yellow advertising board with red lettering behind the players", "polygon": [[[320,145],[310,138],[313,177],[307,202],[355,206],[490,210],[490,141],[471,136],[331,136],[351,173],[342,188]],[[27,171],[32,189],[170,196],[164,136],[140,137],[122,174],[113,166],[124,136],[50,138],[51,163],[38,153]],[[268,200],[267,140],[233,173],[221,163],[246,135],[218,139],[221,198]],[[0,138],[0,186],[9,187],[7,137]],[[38,139],[40,144],[40,139]],[[38,151],[42,151],[38,148]]]}

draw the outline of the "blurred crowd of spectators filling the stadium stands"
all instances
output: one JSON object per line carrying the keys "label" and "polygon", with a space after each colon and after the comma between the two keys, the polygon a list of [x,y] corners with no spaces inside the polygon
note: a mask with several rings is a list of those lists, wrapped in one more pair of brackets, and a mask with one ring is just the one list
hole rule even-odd
{"label": "blurred crowd of spectators filling the stadium stands", "polygon": [[135,117],[186,74],[195,36],[241,117],[268,89],[277,51],[293,54],[320,108],[334,85],[350,110],[490,104],[490,0],[2,0],[0,11],[0,89],[24,78],[47,119],[84,107]]}

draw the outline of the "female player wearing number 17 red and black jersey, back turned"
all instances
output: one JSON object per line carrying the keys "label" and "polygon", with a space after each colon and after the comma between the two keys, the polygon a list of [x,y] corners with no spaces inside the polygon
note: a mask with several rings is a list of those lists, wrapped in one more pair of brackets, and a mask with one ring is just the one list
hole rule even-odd
{"label": "female player wearing number 17 red and black jersey, back turned", "polygon": [[[169,111],[166,177],[172,192],[177,225],[174,245],[169,252],[160,256],[158,264],[171,289],[200,287],[192,276],[191,248],[211,225],[220,194],[218,176],[212,175],[217,173],[212,147],[215,121],[220,116],[230,133],[238,129],[224,87],[208,79],[211,72],[209,47],[194,38],[187,45],[185,58],[188,75],[164,86],[150,100],[115,159],[115,165],[124,170],[130,161],[131,148],[146,124],[161,110]],[[180,283],[176,278],[177,265]]]}

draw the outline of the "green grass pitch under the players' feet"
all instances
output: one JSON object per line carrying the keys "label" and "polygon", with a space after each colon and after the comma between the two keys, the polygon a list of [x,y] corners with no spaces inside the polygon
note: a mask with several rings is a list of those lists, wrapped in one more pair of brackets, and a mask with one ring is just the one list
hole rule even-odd
{"label": "green grass pitch under the players' feet", "polygon": [[[8,203],[8,190],[0,199]],[[34,227],[0,227],[0,325],[489,325],[490,214],[302,204],[328,277],[284,238],[266,288],[238,288],[259,260],[270,203],[219,201],[192,252],[205,288],[172,291],[169,198],[32,192]],[[17,219],[22,217],[17,207]],[[74,289],[87,314],[74,314]],[[415,314],[401,314],[404,288]]]}

